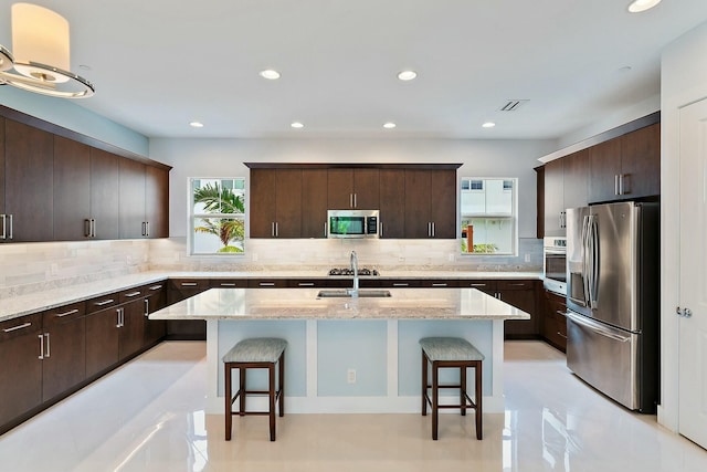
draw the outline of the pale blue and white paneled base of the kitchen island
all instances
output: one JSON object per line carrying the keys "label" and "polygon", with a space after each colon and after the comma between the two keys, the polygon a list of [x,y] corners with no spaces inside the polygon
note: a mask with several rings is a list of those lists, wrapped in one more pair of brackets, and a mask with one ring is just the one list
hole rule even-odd
{"label": "pale blue and white paneled base of the kitchen island", "polygon": [[[504,321],[476,318],[207,319],[207,412],[225,412],[221,358],[246,337],[287,339],[286,413],[420,412],[422,354],[418,340],[426,336],[457,336],[474,344],[485,356],[484,412],[504,411]],[[355,370],[355,382],[350,382],[350,370]],[[467,377],[473,392],[473,376]],[[458,369],[444,369],[440,376],[441,384],[457,381]],[[249,371],[249,388],[253,386],[266,388],[265,370]],[[441,395],[456,402],[457,391]],[[247,401],[247,409],[267,409],[266,397],[249,397]]]}

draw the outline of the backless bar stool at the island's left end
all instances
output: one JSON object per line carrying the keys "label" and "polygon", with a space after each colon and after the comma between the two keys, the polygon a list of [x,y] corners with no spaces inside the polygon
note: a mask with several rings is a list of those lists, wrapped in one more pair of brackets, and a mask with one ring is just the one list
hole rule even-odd
{"label": "backless bar stool at the island's left end", "polygon": [[[243,339],[223,356],[225,367],[225,440],[231,440],[233,416],[268,415],[270,440],[275,440],[275,403],[279,400],[279,416],[285,413],[283,391],[285,387],[285,339],[260,337]],[[277,389],[275,388],[275,364],[278,364]],[[232,397],[231,373],[239,369],[239,390]],[[247,369],[267,369],[267,390],[246,390],[245,375]],[[270,408],[267,411],[246,411],[246,395],[267,395]],[[233,403],[239,399],[239,410],[233,411]]]}

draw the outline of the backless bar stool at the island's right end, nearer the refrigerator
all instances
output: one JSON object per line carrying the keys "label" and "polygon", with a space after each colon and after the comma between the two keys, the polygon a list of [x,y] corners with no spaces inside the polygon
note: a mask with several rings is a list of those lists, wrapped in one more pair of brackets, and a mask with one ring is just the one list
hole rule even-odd
{"label": "backless bar stool at the island's right end, nearer the refrigerator", "polygon": [[[422,416],[428,415],[428,403],[432,409],[432,439],[437,439],[440,408],[460,408],[466,416],[468,408],[476,411],[476,439],[482,439],[482,361],[484,355],[469,342],[458,337],[425,337],[420,339],[422,347]],[[432,365],[432,385],[428,384],[428,365]],[[440,385],[439,374],[443,368],[458,368],[458,385]],[[466,369],[475,371],[475,401],[466,392]],[[440,389],[458,388],[458,405],[440,405]],[[431,390],[431,396],[428,395]]]}

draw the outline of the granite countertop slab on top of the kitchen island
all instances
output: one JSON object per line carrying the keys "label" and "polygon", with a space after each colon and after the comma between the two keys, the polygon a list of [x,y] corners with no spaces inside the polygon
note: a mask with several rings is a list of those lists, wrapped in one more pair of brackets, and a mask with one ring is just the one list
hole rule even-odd
{"label": "granite countertop slab on top of the kitchen island", "polygon": [[475,289],[388,291],[390,297],[319,298],[319,289],[213,289],[155,312],[150,319],[530,318]]}

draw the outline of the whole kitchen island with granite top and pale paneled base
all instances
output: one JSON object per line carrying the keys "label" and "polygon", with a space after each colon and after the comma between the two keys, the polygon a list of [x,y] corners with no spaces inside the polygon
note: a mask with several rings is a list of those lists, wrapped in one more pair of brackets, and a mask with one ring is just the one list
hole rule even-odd
{"label": "whole kitchen island with granite top and pale paneled base", "polygon": [[[209,413],[224,408],[223,354],[243,338],[264,336],[288,343],[288,412],[419,411],[418,340],[425,336],[458,336],[474,344],[486,356],[485,411],[503,411],[504,321],[528,319],[527,313],[475,289],[391,289],[382,297],[323,297],[319,292],[211,289],[150,318],[207,321]],[[265,382],[262,374],[252,377],[255,384]],[[441,381],[456,373],[444,374],[451,377]]]}

